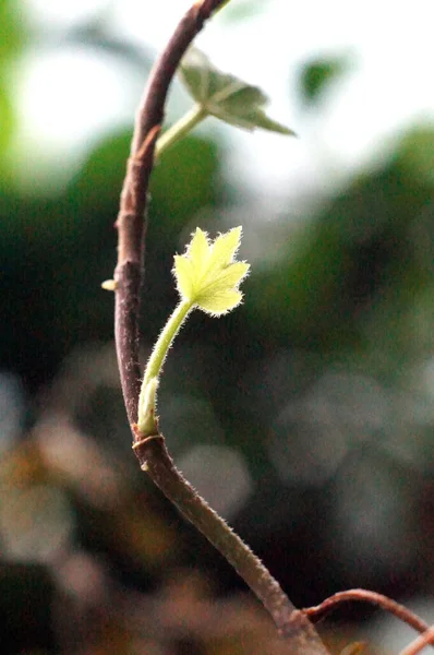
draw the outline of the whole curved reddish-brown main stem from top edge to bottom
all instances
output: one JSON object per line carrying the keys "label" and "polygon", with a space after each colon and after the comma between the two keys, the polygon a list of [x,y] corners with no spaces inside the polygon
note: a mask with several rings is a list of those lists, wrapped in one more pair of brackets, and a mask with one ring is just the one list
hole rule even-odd
{"label": "whole curved reddish-brown main stem from top edge to bottom", "polygon": [[143,439],[138,432],[137,404],[141,386],[138,364],[140,291],[144,270],[144,236],[147,189],[154,151],[164,118],[170,82],[186,48],[204,22],[225,0],[196,0],[179,23],[150,73],[141,102],[128,162],[117,219],[119,231],[116,281],[116,325],[118,364],[134,451],[154,483],[237,569],[264,603],[279,633],[288,639],[293,655],[327,655],[316,630],[297,610],[276,580],[251,549],[209,508],[176,468],[162,436]]}

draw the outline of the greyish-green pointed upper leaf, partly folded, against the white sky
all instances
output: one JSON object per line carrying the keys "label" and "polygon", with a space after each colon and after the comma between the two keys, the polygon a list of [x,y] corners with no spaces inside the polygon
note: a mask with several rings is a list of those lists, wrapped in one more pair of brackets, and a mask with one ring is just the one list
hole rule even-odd
{"label": "greyish-green pointed upper leaf, partly folded, against the white sky", "polygon": [[292,130],[265,114],[268,98],[261,88],[222,73],[197,48],[190,48],[183,57],[180,75],[192,97],[207,114],[245,130],[262,128],[294,135]]}

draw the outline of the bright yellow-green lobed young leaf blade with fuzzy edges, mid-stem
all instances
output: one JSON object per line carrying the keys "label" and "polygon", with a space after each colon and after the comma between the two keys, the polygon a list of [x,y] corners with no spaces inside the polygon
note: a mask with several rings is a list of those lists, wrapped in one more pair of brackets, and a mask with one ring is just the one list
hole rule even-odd
{"label": "bright yellow-green lobed young leaf blade with fuzzy edges, mid-stem", "polygon": [[239,285],[249,264],[236,262],[241,227],[219,235],[214,242],[198,227],[185,254],[174,257],[173,273],[181,298],[212,315],[221,315],[241,302]]}

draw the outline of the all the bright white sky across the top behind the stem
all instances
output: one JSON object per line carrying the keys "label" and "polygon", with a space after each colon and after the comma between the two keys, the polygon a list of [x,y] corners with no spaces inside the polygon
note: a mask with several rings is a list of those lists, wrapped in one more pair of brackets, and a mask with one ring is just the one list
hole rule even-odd
{"label": "all the bright white sky across the top behind the stem", "polygon": [[[37,25],[68,28],[98,16],[119,38],[160,50],[191,0],[26,0]],[[232,0],[236,5],[244,0]],[[432,19],[426,0],[348,3],[264,0],[251,17],[229,21],[229,5],[198,38],[222,70],[257,84],[270,97],[268,114],[299,139],[219,124],[230,141],[228,170],[265,194],[326,187],[387,152],[394,134],[434,119]],[[225,13],[227,14],[225,16]],[[298,75],[313,58],[348,56],[352,68],[318,110],[300,106]],[[145,82],[145,80],[144,80]],[[133,84],[133,82],[132,82]],[[128,83],[126,83],[128,86]],[[57,50],[29,61],[21,95],[26,131],[62,151],[86,143],[120,121],[132,126],[140,97],[125,88],[114,59],[80,49]],[[179,116],[172,98],[170,116]],[[65,131],[64,123],[69,129]],[[208,128],[207,128],[208,126]],[[215,130],[217,121],[205,122]]]}

